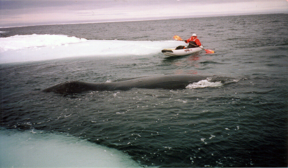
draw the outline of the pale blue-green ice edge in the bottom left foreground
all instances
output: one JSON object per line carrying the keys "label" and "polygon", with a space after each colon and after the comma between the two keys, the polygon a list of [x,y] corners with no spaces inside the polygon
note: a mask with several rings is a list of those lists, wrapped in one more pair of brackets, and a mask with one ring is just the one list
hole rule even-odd
{"label": "pale blue-green ice edge in the bottom left foreground", "polygon": [[0,167],[140,167],[130,156],[86,140],[0,130]]}

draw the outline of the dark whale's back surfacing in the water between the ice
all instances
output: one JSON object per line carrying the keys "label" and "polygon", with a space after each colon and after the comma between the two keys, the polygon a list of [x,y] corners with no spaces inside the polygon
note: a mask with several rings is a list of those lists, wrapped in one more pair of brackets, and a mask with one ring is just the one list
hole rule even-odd
{"label": "dark whale's back surfacing in the water between the ice", "polygon": [[80,93],[84,91],[113,91],[129,90],[132,88],[146,89],[185,89],[190,83],[206,79],[206,75],[171,74],[139,77],[117,82],[89,83],[81,81],[68,81],[44,89],[44,92]]}

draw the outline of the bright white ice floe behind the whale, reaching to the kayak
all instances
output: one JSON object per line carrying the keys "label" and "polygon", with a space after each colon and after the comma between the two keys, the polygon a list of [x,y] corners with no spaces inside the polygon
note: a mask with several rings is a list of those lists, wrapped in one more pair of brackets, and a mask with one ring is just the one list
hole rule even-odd
{"label": "bright white ice floe behind the whale, reaching to the kayak", "polygon": [[[181,41],[87,40],[66,35],[15,35],[0,38],[0,63],[52,60],[68,57],[143,56]],[[68,45],[69,44],[69,45]]]}

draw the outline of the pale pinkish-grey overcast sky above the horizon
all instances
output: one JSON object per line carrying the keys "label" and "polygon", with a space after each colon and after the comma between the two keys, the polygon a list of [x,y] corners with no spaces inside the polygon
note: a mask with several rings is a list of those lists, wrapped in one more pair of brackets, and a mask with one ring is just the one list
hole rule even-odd
{"label": "pale pinkish-grey overcast sky above the horizon", "polygon": [[0,27],[288,13],[288,0],[0,0]]}

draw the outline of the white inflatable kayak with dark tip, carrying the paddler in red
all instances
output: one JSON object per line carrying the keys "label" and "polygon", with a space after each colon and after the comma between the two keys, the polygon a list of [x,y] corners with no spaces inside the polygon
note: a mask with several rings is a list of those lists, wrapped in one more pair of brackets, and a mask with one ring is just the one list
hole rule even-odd
{"label": "white inflatable kayak with dark tip, carrying the paddler in red", "polygon": [[185,49],[176,49],[176,48],[168,48],[168,49],[162,49],[162,53],[166,56],[186,56],[188,54],[192,54],[197,51],[201,51],[203,46],[195,47],[195,48],[185,48]]}

